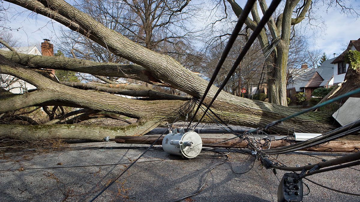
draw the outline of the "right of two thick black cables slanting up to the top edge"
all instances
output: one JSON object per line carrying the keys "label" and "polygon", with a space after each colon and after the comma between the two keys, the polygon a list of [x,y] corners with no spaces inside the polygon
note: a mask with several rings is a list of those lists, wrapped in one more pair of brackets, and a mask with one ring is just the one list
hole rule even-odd
{"label": "right of two thick black cables slanting up to the top edge", "polygon": [[[273,0],[271,2],[269,8],[266,10],[264,16],[261,18],[260,22],[258,23],[258,25],[254,29],[253,33],[251,34],[249,40],[246,42],[245,46],[243,47],[243,50],[240,52],[240,55],[235,60],[235,62],[233,64],[233,66],[231,67],[228,75],[226,75],[226,78],[224,79],[224,82],[221,84],[221,86],[219,87],[219,89],[215,93],[214,97],[212,98],[212,100],[211,100],[210,104],[208,105],[206,111],[211,107],[212,103],[215,101],[216,97],[220,94],[222,89],[225,87],[226,83],[228,83],[230,77],[233,75],[236,68],[238,67],[238,65],[240,64],[240,62],[242,61],[242,59],[246,55],[247,51],[250,49],[252,43],[256,40],[257,36],[260,34],[262,29],[265,27],[267,21],[269,21],[271,15],[274,13],[275,9],[278,7],[280,2],[281,2],[281,0]],[[202,98],[202,100],[203,99],[204,98]],[[199,122],[197,123],[197,125],[201,122],[201,120],[204,118],[204,116],[205,116],[205,113],[202,115],[202,117],[199,120]],[[195,127],[196,127],[196,125],[195,125]]]}

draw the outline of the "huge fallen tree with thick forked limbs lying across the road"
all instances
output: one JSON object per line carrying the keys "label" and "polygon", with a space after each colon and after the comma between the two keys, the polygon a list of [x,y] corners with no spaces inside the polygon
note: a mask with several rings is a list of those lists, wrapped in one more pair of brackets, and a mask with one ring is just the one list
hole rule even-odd
{"label": "huge fallen tree with thick forked limbs lying across the road", "polygon": [[[21,78],[36,86],[37,90],[24,95],[1,99],[0,113],[6,113],[28,106],[46,106],[50,104],[109,111],[138,119],[137,123],[131,124],[122,130],[117,130],[118,135],[141,135],[159,124],[175,120],[178,115],[180,115],[180,120],[184,120],[186,114],[191,115],[191,109],[196,105],[195,102],[180,100],[134,100],[103,92],[76,89],[53,82],[22,65],[30,66],[31,68],[51,66],[53,69],[58,68],[84,73],[98,72],[95,74],[107,76],[111,74],[113,76],[128,78],[131,75],[134,78],[136,77],[141,81],[151,84],[171,86],[195,98],[200,98],[206,89],[208,84],[206,80],[185,69],[174,59],[167,55],[148,50],[130,41],[120,33],[104,27],[85,13],[73,8],[65,1],[48,0],[39,2],[35,0],[9,0],[9,2],[51,17],[72,30],[82,33],[100,45],[107,47],[114,54],[141,66],[127,65],[125,66],[126,69],[121,65],[100,64],[60,57],[28,56],[23,54],[11,55],[5,54],[2,51],[0,53],[4,53],[6,58],[0,57],[1,73]],[[118,70],[119,68],[121,71]],[[123,68],[125,68],[124,70],[128,73],[123,73]],[[134,69],[136,71],[134,71]],[[210,102],[216,91],[217,88],[212,86],[204,101],[205,104]],[[13,103],[13,105],[9,105],[9,103]],[[224,91],[220,93],[211,109],[226,123],[256,128],[298,112],[298,110],[279,105],[236,97]],[[329,114],[311,112],[285,121],[283,124],[275,125],[270,128],[270,130],[275,133],[285,134],[291,134],[294,131],[310,133],[327,132],[333,129],[333,126],[329,124],[329,117]],[[197,120],[197,118],[195,118],[195,120]],[[204,121],[211,122],[211,119],[206,118]],[[143,127],[144,125],[146,125],[146,127]],[[24,126],[16,130],[14,127],[8,125],[2,125],[0,127],[2,131],[17,131],[17,134],[21,134],[21,131],[26,132],[36,129],[44,131],[50,130],[51,127],[57,128],[60,126],[47,125],[46,129],[41,128],[42,126],[38,128]],[[61,127],[69,126],[63,125]],[[71,133],[71,129],[66,131]],[[79,132],[80,131],[81,130],[79,130]],[[84,133],[87,132],[87,130],[83,131]],[[73,132],[72,136],[74,136],[73,134],[77,134],[79,137],[81,136],[81,138],[86,135],[78,134],[77,131]],[[91,136],[92,134],[94,133],[89,133],[88,135]],[[68,138],[68,136],[65,135],[63,137]],[[99,136],[96,136],[96,139],[99,139],[98,137]]]}

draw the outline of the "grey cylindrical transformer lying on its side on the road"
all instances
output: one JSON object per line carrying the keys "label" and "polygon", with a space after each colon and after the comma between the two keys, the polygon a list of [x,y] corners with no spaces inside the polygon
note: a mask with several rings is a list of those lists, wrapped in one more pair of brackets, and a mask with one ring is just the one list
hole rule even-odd
{"label": "grey cylindrical transformer lying on its side on the road", "polygon": [[162,148],[166,153],[192,159],[199,155],[202,149],[202,140],[198,133],[174,129],[162,140]]}

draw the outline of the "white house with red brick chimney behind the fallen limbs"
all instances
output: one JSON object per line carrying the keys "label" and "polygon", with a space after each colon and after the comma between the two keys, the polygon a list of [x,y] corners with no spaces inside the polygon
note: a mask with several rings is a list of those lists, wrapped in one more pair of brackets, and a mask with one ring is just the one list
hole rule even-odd
{"label": "white house with red brick chimney behind the fallen limbs", "polygon": [[[41,43],[41,52],[37,49],[36,46],[27,46],[27,47],[18,47],[14,48],[15,51],[23,53],[23,54],[32,54],[32,55],[46,55],[53,56],[54,55],[54,47],[49,40],[44,40]],[[8,48],[3,48],[0,50],[10,51]],[[55,75],[55,70],[51,70],[51,73]],[[26,93],[30,89],[35,89],[36,87],[30,83],[27,83],[21,79],[15,78],[12,75],[8,74],[0,74],[0,85],[2,89],[12,93]]]}

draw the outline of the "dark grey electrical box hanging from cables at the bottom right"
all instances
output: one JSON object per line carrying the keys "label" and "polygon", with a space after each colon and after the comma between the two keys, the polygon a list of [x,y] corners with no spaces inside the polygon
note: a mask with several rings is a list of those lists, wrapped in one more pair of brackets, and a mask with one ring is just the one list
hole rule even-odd
{"label": "dark grey electrical box hanging from cables at the bottom right", "polygon": [[278,187],[278,202],[302,201],[302,182],[299,174],[285,173]]}

